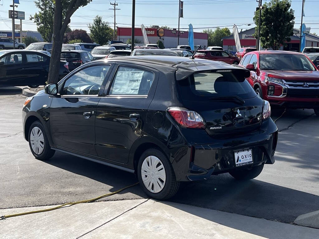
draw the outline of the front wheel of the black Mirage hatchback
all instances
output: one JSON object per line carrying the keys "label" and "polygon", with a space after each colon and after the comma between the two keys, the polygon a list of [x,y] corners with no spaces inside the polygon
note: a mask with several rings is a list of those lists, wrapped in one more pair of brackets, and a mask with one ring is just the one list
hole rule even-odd
{"label": "front wheel of the black Mirage hatchback", "polygon": [[52,158],[55,150],[51,149],[48,136],[40,121],[34,121],[28,134],[29,147],[36,159],[46,160]]}

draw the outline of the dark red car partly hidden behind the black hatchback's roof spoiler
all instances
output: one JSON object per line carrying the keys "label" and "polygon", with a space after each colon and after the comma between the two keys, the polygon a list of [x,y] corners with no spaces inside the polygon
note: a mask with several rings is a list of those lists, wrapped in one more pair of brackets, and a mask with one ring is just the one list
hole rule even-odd
{"label": "dark red car partly hidden behind the black hatchback's roof spoiler", "polygon": [[232,56],[227,52],[220,50],[198,50],[194,57],[235,65],[238,65],[240,62],[240,59],[237,56]]}

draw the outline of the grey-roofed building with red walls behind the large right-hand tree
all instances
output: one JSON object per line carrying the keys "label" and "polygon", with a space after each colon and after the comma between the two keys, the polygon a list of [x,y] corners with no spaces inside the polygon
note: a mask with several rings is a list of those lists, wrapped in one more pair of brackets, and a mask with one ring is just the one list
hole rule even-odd
{"label": "grey-roofed building with red walls behind the large right-hand tree", "polygon": [[[253,37],[254,33],[255,33],[255,27],[238,33],[241,47],[256,47],[256,39]],[[222,38],[222,41],[223,41],[224,50],[230,50],[232,52],[237,51],[233,35]],[[299,43],[300,43],[300,34],[295,34],[291,36],[291,40],[289,42],[286,42],[286,46],[281,46],[279,50],[299,51],[299,46],[300,46]],[[319,47],[319,37],[310,33],[306,34],[306,47]]]}

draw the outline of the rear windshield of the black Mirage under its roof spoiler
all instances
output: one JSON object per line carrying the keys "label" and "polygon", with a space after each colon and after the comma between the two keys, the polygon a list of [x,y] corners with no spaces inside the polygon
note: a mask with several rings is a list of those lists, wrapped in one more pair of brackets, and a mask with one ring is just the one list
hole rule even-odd
{"label": "rear windshield of the black Mirage under its roof spoiler", "polygon": [[233,72],[195,73],[178,81],[183,99],[207,101],[210,97],[236,95],[243,99],[256,96],[245,77]]}

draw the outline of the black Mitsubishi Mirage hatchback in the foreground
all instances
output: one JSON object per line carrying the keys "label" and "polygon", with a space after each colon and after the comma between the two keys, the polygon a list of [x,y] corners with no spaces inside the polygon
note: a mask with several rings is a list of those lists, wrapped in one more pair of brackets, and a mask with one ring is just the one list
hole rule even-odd
{"label": "black Mitsubishi Mirage hatchback in the foreground", "polygon": [[180,181],[252,179],[275,162],[278,130],[249,74],[186,57],[93,61],[26,99],[24,136],[40,160],[61,151],[136,173],[154,199]]}

